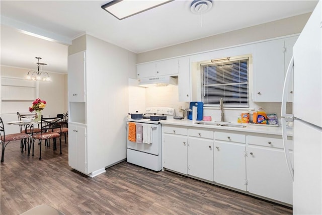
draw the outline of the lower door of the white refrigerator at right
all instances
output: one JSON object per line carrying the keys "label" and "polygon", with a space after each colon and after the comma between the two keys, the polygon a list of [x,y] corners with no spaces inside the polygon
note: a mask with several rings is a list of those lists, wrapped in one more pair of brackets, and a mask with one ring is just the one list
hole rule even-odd
{"label": "lower door of the white refrigerator at right", "polygon": [[321,129],[294,120],[293,145],[293,213],[322,214]]}

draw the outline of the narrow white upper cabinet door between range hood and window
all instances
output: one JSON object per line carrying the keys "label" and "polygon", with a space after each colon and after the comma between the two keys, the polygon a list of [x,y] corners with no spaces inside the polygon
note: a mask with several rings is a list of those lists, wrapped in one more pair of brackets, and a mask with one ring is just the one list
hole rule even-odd
{"label": "narrow white upper cabinet door between range hood and window", "polygon": [[179,58],[178,90],[180,102],[191,102],[189,57]]}

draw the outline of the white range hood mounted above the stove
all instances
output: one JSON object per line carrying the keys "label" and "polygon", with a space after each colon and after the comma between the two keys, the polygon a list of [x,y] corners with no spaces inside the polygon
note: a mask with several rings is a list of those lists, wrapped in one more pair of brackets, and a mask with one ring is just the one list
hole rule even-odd
{"label": "white range hood mounted above the stove", "polygon": [[162,87],[168,85],[178,85],[178,79],[171,76],[155,76],[139,79],[139,86],[142,87]]}

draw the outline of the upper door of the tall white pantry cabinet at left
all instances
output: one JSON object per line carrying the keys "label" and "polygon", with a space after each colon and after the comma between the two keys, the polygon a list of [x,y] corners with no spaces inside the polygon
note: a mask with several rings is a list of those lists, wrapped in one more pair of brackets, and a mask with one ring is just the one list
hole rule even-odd
{"label": "upper door of the tall white pantry cabinet at left", "polygon": [[68,101],[85,102],[85,51],[68,56]]}

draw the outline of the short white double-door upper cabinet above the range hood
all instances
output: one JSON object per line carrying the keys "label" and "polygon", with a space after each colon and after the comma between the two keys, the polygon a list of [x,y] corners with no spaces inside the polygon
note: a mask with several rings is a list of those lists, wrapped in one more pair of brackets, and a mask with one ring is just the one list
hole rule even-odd
{"label": "short white double-door upper cabinet above the range hood", "polygon": [[136,65],[137,79],[154,76],[177,75],[178,73],[178,58]]}

